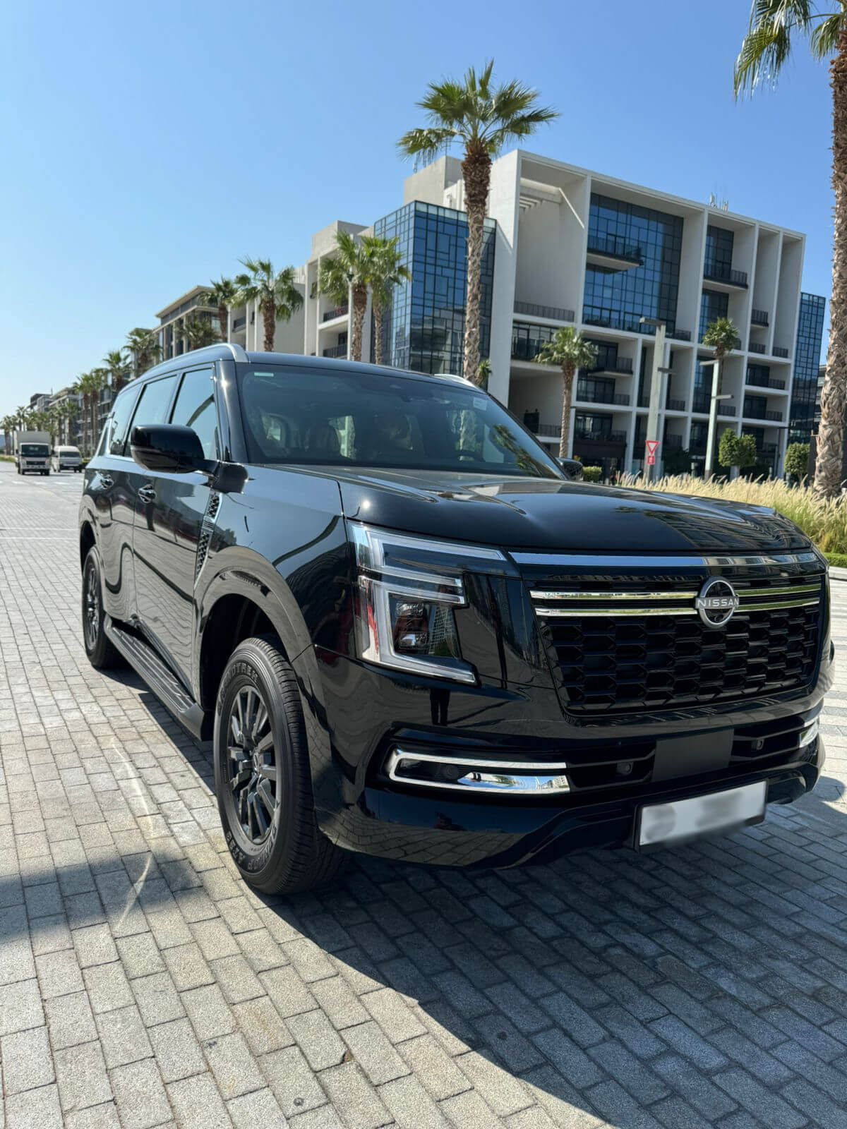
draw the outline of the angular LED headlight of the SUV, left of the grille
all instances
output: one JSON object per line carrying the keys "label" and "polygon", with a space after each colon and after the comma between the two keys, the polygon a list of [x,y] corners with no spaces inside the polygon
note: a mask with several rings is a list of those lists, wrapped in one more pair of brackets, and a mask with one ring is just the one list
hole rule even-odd
{"label": "angular LED headlight of the SUV, left of the grille", "polygon": [[466,606],[464,572],[510,571],[497,549],[428,541],[349,522],[356,551],[359,655],[398,671],[477,681],[462,659],[453,612]]}

